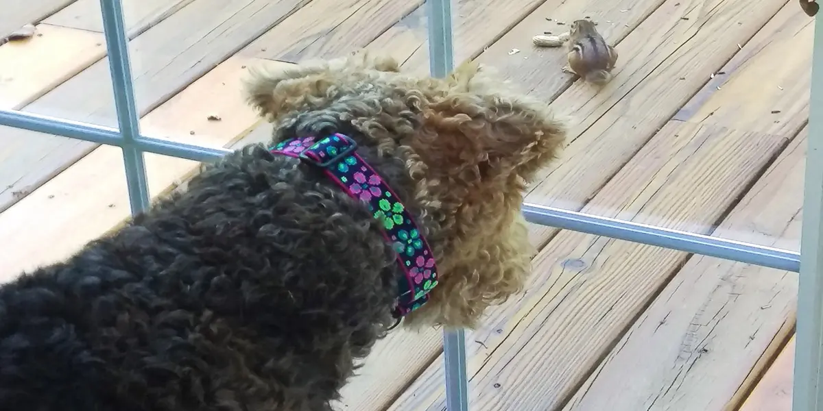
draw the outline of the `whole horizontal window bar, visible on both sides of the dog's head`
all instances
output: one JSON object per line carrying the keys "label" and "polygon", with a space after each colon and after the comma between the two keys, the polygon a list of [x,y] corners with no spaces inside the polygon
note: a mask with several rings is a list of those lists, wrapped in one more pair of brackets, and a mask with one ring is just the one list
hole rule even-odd
{"label": "whole horizontal window bar, visible on both sides of the dog's head", "polygon": [[[100,144],[121,145],[122,139],[117,129],[84,122],[72,122],[59,118],[49,118],[31,113],[0,110],[0,125],[25,128],[58,136]],[[194,161],[211,162],[231,152],[224,148],[209,148],[189,145],[176,141],[140,136],[135,141],[140,150],[170,155]],[[663,229],[646,224],[632,223],[619,219],[609,219],[597,215],[587,215],[577,211],[561,210],[537,204],[523,204],[523,215],[534,224],[558,229],[569,229],[581,233],[602,235],[625,241],[640,242],[656,247],[666,247],[682,252],[694,252],[704,256],[714,256],[756,266],[766,266],[779,270],[798,272],[800,254],[778,248],[756,246],[745,242],[735,242],[723,238],[701,234]]]}

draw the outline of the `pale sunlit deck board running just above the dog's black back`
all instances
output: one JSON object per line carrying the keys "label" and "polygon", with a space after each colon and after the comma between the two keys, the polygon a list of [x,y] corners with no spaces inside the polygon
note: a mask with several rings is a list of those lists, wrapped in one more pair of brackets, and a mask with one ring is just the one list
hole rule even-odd
{"label": "pale sunlit deck board running just above the dog's black back", "polygon": [[[246,63],[230,58],[189,85],[143,119],[146,132],[165,130],[172,132],[174,141],[217,146],[243,136],[257,122],[239,91],[245,72],[241,67]],[[210,110],[220,113],[222,121],[209,122],[204,113]],[[190,130],[197,133],[190,135]],[[149,190],[163,192],[197,166],[186,159],[146,153]],[[0,281],[70,256],[129,214],[123,155],[117,147],[102,145],[0,214],[0,231],[21,246],[14,252],[0,249],[4,273]],[[44,243],[50,246],[44,248]]]}

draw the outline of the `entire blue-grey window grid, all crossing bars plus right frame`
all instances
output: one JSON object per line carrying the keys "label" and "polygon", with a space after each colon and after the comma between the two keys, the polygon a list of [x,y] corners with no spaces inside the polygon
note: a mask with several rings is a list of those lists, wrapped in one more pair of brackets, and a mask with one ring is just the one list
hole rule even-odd
{"label": "entire blue-grey window grid, all crossing bars plus right frame", "polygon": [[[128,39],[120,0],[100,0],[109,68],[114,88],[119,129],[74,122],[14,110],[0,110],[0,125],[58,136],[116,145],[123,150],[132,213],[146,210],[149,192],[143,153],[170,155],[195,161],[213,161],[226,155],[224,148],[188,145],[142,136],[134,100]],[[427,0],[430,71],[446,76],[453,68],[453,30],[450,0]],[[811,83],[811,118],[805,199],[803,204],[802,258],[797,252],[744,242],[663,229],[630,221],[587,215],[542,205],[524,204],[523,215],[534,224],[671,248],[756,266],[800,272],[797,312],[797,353],[793,391],[794,411],[823,411],[823,26],[815,29]],[[467,411],[466,345],[463,330],[444,333],[444,367],[447,406]]]}

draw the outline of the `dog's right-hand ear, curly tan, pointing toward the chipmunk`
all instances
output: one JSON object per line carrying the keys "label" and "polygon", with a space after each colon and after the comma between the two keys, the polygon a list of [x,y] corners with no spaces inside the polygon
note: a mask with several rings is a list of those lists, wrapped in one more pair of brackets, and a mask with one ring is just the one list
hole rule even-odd
{"label": "dog's right-hand ear, curly tan, pointing toward the chipmunk", "polygon": [[457,156],[443,161],[477,168],[483,179],[517,175],[530,180],[559,153],[565,121],[555,118],[547,104],[515,95],[512,85],[483,70],[472,62],[458,67],[448,93],[427,105],[425,126],[431,136],[429,148],[421,149]]}

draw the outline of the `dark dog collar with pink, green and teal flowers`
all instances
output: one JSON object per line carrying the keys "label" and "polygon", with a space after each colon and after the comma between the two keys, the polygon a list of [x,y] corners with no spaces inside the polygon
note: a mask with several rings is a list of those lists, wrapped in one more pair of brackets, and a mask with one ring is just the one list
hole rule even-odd
{"label": "dark dog collar with pink, green and teal flowers", "polygon": [[429,301],[429,293],[437,285],[435,257],[400,198],[356,150],[354,140],[336,133],[319,141],[314,136],[291,138],[270,151],[323,169],[346,194],[369,206],[384,237],[393,244],[404,274],[398,281],[398,301],[392,311],[399,321]]}

